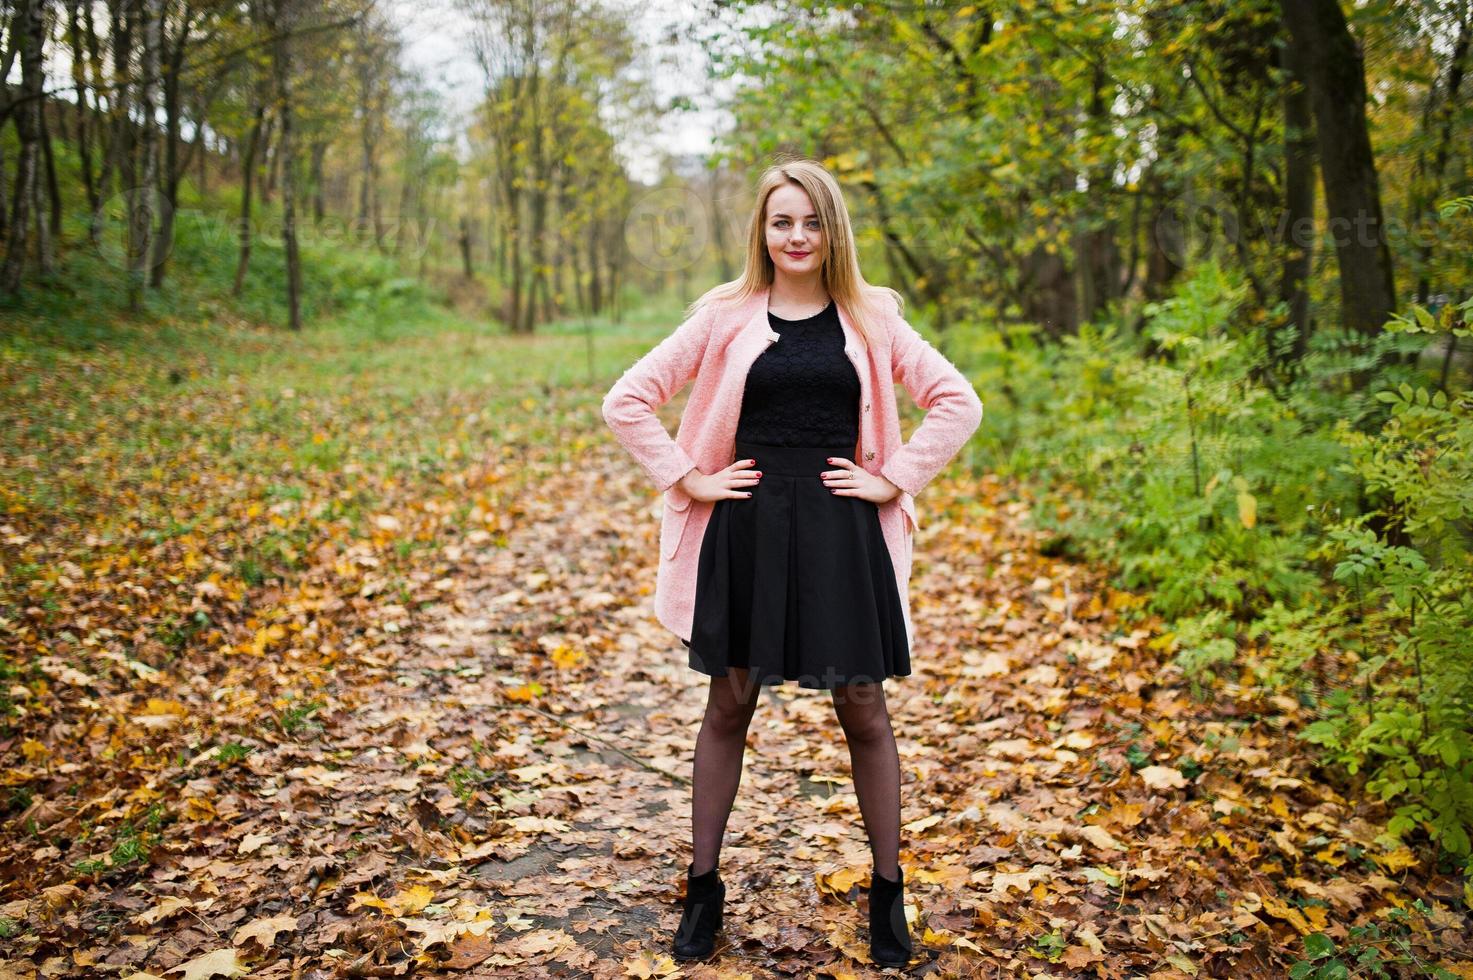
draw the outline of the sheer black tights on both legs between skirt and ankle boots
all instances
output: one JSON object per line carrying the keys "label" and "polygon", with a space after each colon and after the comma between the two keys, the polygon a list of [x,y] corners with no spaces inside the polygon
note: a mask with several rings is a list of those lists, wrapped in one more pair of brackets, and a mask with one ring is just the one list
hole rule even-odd
{"label": "sheer black tights on both legs between skirt and ankle boots", "polygon": [[[731,668],[725,678],[711,678],[706,718],[695,737],[691,791],[692,874],[706,874],[720,856],[726,818],[741,783],[747,725],[757,707],[757,694],[759,687],[744,668]],[[837,687],[834,710],[848,744],[854,793],[859,796],[875,869],[887,878],[896,878],[900,875],[900,755],[896,752],[884,687]]]}

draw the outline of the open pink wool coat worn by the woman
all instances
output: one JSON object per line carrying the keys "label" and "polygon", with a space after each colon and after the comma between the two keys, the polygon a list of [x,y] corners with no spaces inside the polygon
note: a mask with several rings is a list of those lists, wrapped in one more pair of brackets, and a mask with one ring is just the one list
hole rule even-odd
{"label": "open pink wool coat worn by the woman", "polygon": [[[604,420],[664,494],[654,613],[682,640],[691,638],[697,560],[714,501],[695,500],[676,482],[691,467],[714,473],[735,460],[747,368],[781,337],[767,323],[767,293],[763,289],[739,307],[707,304],[626,370],[604,396]],[[844,352],[854,361],[860,386],[859,444],[850,458],[901,491],[879,504],[879,526],[913,648],[910,556],[919,526],[915,495],[977,430],[982,401],[971,382],[916,333],[893,304],[884,307],[885,329],[868,351],[846,309],[838,309]],[[672,439],[655,410],[692,379],[695,386]],[[927,410],[909,442],[901,442],[900,436],[894,382],[904,385],[915,402]]]}

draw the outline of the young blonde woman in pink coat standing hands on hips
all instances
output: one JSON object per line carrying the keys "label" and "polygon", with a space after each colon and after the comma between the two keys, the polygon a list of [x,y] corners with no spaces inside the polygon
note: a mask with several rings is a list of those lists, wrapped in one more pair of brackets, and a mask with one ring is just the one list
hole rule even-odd
{"label": "young blonde woman in pink coat standing hands on hips", "polygon": [[[910,673],[915,495],[981,423],[971,383],[859,271],[838,181],[767,168],[742,276],[608,391],[602,413],[663,492],[655,616],[710,675],[695,740],[692,859],[672,952],[722,925],[722,837],[762,684],[832,691],[869,836],[869,951],[904,965],[900,760],[884,679]],[[894,382],[925,419],[901,439]],[[655,410],[692,385],[676,436]]]}

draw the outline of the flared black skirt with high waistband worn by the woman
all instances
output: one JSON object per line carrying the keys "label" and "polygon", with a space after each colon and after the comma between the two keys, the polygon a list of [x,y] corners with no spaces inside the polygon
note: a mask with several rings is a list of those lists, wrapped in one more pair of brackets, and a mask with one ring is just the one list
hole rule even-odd
{"label": "flared black skirt with high waistband worn by the woman", "polygon": [[904,612],[879,508],[819,476],[847,447],[736,442],[762,472],[722,498],[701,538],[689,648],[694,671],[748,668],[759,684],[832,690],[910,673]]}

